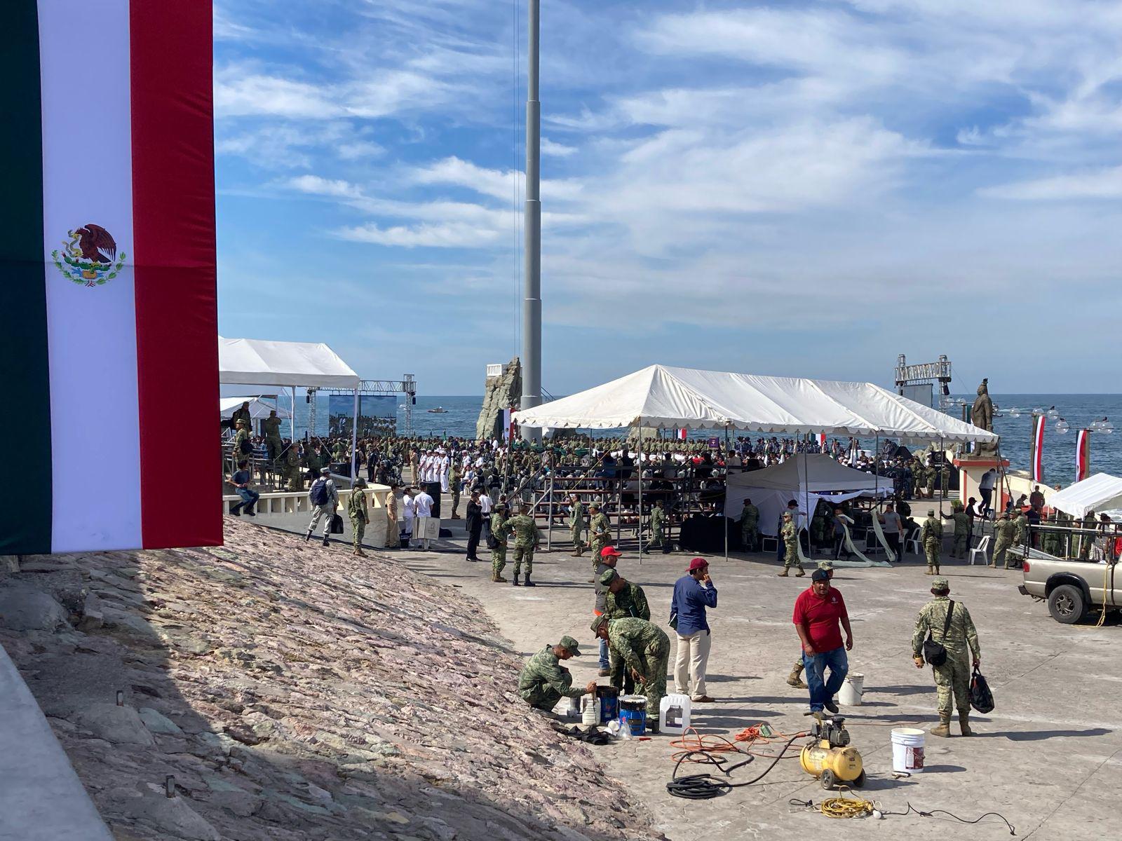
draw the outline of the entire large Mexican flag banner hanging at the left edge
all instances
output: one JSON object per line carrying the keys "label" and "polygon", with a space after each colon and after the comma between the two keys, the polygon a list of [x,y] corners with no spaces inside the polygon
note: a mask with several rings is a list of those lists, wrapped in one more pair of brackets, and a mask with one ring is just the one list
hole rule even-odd
{"label": "entire large Mexican flag banner hanging at the left edge", "polygon": [[0,555],[219,544],[211,3],[3,9]]}

